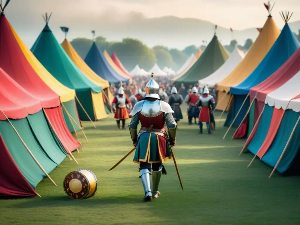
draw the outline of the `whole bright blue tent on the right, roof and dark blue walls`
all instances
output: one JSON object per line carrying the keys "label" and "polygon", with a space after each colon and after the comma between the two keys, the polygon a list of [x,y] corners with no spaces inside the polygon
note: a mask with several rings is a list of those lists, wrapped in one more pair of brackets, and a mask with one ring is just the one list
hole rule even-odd
{"label": "whole bright blue tent on the right, roof and dark blue walls", "polygon": [[[298,49],[299,46],[300,44],[297,38],[291,31],[289,25],[286,23],[274,45],[265,55],[265,58],[263,58],[263,60],[255,68],[255,70],[239,85],[230,88],[230,93],[233,95],[233,101],[231,102],[224,126],[229,126],[232,123],[243,101],[249,93],[250,88],[258,85],[271,76],[286,62],[286,60],[289,59],[289,57]],[[233,127],[237,127],[241,123],[249,104],[250,101],[247,99],[240,113],[238,114],[238,117],[235,119],[235,122],[232,125]]]}

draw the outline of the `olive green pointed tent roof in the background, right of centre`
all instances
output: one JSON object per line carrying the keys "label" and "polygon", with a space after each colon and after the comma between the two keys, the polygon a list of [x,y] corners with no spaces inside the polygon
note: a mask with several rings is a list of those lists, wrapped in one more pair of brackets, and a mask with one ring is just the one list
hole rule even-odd
{"label": "olive green pointed tent roof in the background, right of centre", "polygon": [[200,58],[181,77],[175,80],[177,84],[185,86],[195,85],[211,73],[214,73],[229,58],[230,53],[222,46],[217,36],[214,35]]}

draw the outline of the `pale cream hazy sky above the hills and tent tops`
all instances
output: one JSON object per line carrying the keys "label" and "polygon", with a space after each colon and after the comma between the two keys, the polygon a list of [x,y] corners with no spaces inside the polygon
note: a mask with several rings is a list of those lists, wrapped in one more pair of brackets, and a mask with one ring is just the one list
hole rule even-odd
{"label": "pale cream hazy sky above the hills and tent tops", "polygon": [[[5,0],[2,0],[4,2]],[[11,0],[5,14],[29,46],[38,37],[45,23],[42,14],[52,12],[50,27],[62,41],[59,26],[68,26],[76,38],[84,29],[97,29],[110,23],[138,20],[143,17],[177,16],[210,21],[225,28],[262,27],[268,13],[266,0]],[[281,10],[290,10],[290,20],[300,20],[300,0],[276,0],[272,16],[278,27],[283,26]],[[271,2],[272,3],[272,2]],[[101,25],[102,24],[102,25]],[[100,26],[101,25],[101,26]],[[75,34],[75,32],[77,32]],[[97,30],[97,35],[101,31]],[[81,35],[83,36],[83,35]],[[126,37],[126,35],[125,35]],[[193,43],[190,43],[193,44]]]}

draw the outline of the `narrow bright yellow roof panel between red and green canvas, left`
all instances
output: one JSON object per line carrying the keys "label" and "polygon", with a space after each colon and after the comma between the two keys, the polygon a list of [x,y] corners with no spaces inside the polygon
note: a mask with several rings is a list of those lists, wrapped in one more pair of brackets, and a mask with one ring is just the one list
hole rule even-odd
{"label": "narrow bright yellow roof panel between red and green canvas, left", "polygon": [[30,49],[26,46],[26,44],[22,41],[13,27],[10,25],[10,29],[13,32],[13,35],[16,38],[20,48],[22,49],[23,54],[28,60],[31,67],[35,70],[38,76],[48,85],[52,91],[54,91],[57,95],[59,95],[61,102],[70,101],[75,96],[75,90],[67,88],[62,85],[57,79],[55,79],[46,69],[45,67],[38,61],[37,58],[32,54]]}

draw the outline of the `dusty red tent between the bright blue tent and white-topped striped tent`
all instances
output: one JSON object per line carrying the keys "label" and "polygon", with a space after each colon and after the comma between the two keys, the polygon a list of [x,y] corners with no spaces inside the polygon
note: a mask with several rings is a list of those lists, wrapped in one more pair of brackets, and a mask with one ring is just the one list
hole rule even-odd
{"label": "dusty red tent between the bright blue tent and white-topped striped tent", "polygon": [[[262,109],[265,105],[265,98],[266,96],[271,93],[272,91],[276,90],[283,84],[285,84],[289,79],[295,76],[296,73],[300,70],[300,48],[294,52],[294,54],[278,69],[276,70],[271,76],[265,79],[260,84],[254,86],[250,89],[250,102],[255,99],[255,109],[254,109],[254,121],[253,124],[256,123],[259,115],[262,112]],[[288,91],[288,90],[286,90]],[[247,133],[247,123],[248,123],[247,116],[245,117],[244,121],[235,131],[234,138],[241,138],[245,137]],[[256,126],[257,128],[257,126]],[[250,143],[256,129],[252,132],[251,137],[248,138],[247,142]]]}

